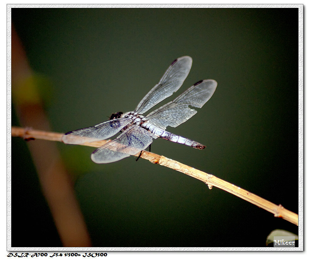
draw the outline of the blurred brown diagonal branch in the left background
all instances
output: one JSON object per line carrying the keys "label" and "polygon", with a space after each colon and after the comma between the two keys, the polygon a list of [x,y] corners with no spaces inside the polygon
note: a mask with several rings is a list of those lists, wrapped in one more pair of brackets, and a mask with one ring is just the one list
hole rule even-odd
{"label": "blurred brown diagonal branch in the left background", "polygon": [[[36,77],[13,24],[11,42],[12,102],[20,124],[49,131]],[[73,182],[64,168],[56,144],[29,142],[28,147],[63,246],[90,247],[91,240],[75,197]]]}

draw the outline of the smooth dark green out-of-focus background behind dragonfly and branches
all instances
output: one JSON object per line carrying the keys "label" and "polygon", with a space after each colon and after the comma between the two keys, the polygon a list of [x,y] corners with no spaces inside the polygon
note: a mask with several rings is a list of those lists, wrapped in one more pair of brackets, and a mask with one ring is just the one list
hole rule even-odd
{"label": "smooth dark green out-of-focus background behind dragonfly and branches", "polygon": [[[297,8],[11,11],[31,67],[51,83],[43,90],[53,131],[133,110],[175,58],[189,55],[192,70],[179,93],[207,78],[218,87],[197,115],[167,130],[206,149],[157,139],[152,151],[298,213]],[[94,148],[59,149],[76,175],[94,246],[264,247],[274,229],[298,233],[253,204],[146,160],[97,165]],[[61,246],[27,144],[17,138],[11,213],[13,247]]]}

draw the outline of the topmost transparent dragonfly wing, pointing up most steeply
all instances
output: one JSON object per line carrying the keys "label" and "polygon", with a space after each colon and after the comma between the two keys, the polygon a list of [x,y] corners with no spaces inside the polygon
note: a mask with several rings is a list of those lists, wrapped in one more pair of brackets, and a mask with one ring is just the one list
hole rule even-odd
{"label": "topmost transparent dragonfly wing, pointing up most steeply", "polygon": [[150,108],[179,90],[192,67],[193,59],[183,56],[175,59],[166,70],[160,81],[138,104],[135,112],[144,114]]}

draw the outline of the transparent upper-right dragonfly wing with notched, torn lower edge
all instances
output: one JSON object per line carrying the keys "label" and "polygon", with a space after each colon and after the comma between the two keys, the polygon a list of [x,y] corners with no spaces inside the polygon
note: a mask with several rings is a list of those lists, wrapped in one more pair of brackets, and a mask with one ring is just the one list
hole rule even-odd
{"label": "transparent upper-right dragonfly wing with notched, torn lower edge", "polygon": [[216,86],[217,82],[213,79],[199,81],[145,118],[163,130],[167,126],[177,127],[197,113],[189,106],[201,108],[214,94]]}

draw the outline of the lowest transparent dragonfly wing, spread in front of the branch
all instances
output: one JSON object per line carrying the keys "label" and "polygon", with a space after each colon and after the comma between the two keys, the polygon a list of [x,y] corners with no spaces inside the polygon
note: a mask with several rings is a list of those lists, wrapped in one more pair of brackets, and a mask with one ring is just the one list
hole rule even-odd
{"label": "lowest transparent dragonfly wing, spread in front of the branch", "polygon": [[112,163],[144,150],[157,138],[139,125],[131,125],[117,138],[104,144],[91,154],[97,164]]}

